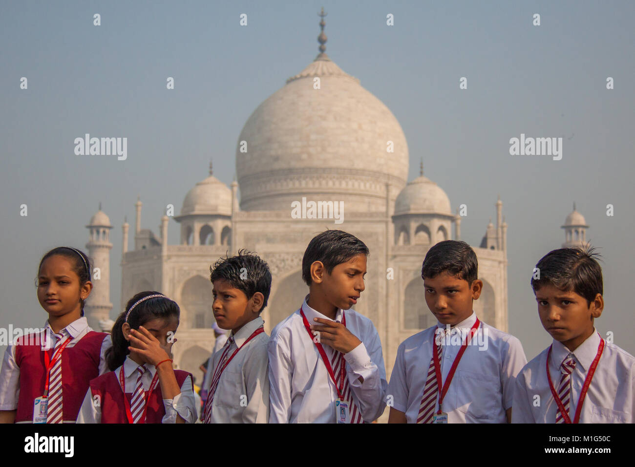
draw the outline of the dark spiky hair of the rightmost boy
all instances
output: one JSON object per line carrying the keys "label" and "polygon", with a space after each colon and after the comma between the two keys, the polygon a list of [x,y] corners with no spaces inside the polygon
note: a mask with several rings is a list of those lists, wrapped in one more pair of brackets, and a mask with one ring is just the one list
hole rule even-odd
{"label": "dark spiky hair of the rightmost boy", "polygon": [[595,248],[560,248],[544,255],[536,264],[539,279],[531,276],[531,288],[536,293],[545,284],[553,285],[563,292],[573,291],[584,297],[587,308],[596,295],[603,293],[602,268]]}

